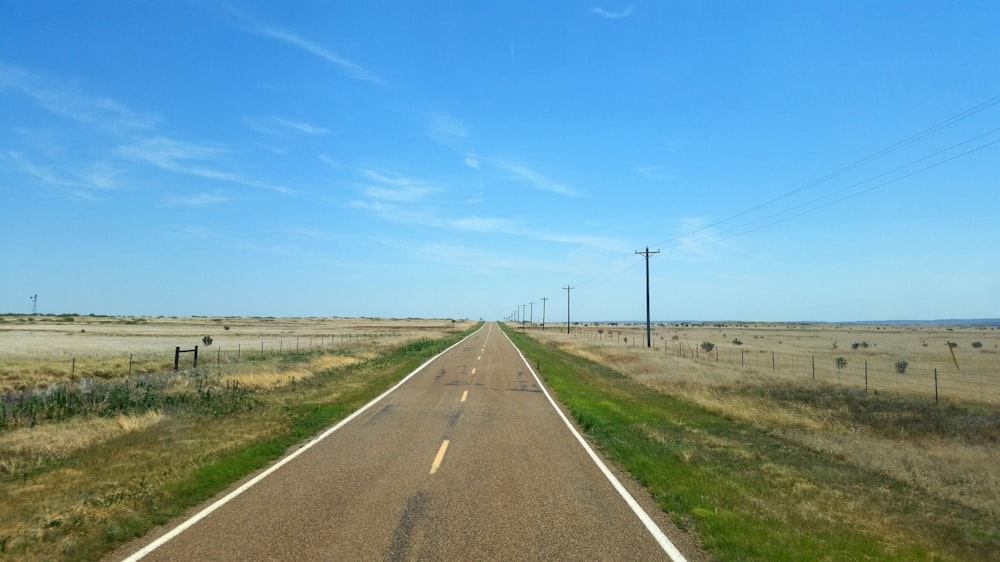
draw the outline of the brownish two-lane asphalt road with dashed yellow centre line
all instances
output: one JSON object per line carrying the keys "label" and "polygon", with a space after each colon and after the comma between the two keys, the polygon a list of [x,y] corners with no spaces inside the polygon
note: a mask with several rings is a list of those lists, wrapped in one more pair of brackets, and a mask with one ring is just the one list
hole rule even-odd
{"label": "brownish two-lane asphalt road with dashed yellow centre line", "polygon": [[129,559],[683,559],[492,323],[295,455]]}

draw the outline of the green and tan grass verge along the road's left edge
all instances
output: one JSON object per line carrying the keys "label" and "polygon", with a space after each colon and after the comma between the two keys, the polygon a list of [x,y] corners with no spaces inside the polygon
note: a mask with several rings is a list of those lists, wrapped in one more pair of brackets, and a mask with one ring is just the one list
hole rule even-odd
{"label": "green and tan grass verge along the road's left edge", "polygon": [[135,407],[0,432],[0,559],[99,559],[279,458],[474,329],[375,356],[364,350],[354,361],[344,349],[247,361],[251,373],[284,377],[280,385],[238,385],[228,377],[239,373],[222,379],[210,369],[188,388],[109,383],[112,399]]}

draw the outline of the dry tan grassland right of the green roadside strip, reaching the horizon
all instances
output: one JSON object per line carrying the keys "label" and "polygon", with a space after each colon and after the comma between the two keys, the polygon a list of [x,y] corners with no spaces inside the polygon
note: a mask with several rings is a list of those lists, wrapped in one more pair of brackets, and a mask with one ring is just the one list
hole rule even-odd
{"label": "dry tan grassland right of the green roadside strip, reaching the horizon", "polygon": [[[654,325],[652,348],[644,324],[527,332],[657,391],[1000,520],[995,327],[667,324]],[[703,342],[715,348],[706,352]],[[954,356],[949,342],[957,344]],[[846,361],[840,369],[838,357]],[[898,361],[908,363],[902,374]]]}

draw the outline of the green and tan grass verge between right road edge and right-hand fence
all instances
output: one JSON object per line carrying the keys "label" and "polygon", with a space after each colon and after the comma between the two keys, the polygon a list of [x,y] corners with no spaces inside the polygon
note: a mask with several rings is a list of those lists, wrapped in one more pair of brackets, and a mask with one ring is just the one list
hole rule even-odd
{"label": "green and tan grass verge between right road edge and right-hand fence", "polygon": [[995,406],[720,383],[685,376],[713,368],[693,359],[649,368],[656,352],[507,331],[592,442],[720,560],[1000,560]]}

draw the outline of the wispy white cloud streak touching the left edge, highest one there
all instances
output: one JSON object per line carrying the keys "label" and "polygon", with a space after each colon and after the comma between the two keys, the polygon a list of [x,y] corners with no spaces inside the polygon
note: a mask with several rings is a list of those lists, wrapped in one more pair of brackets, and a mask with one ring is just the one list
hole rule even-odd
{"label": "wispy white cloud streak touching the left edge, highest one there", "polygon": [[146,130],[158,121],[155,116],[133,111],[112,98],[93,96],[57,80],[0,63],[0,92],[3,91],[20,92],[54,115],[105,133]]}

